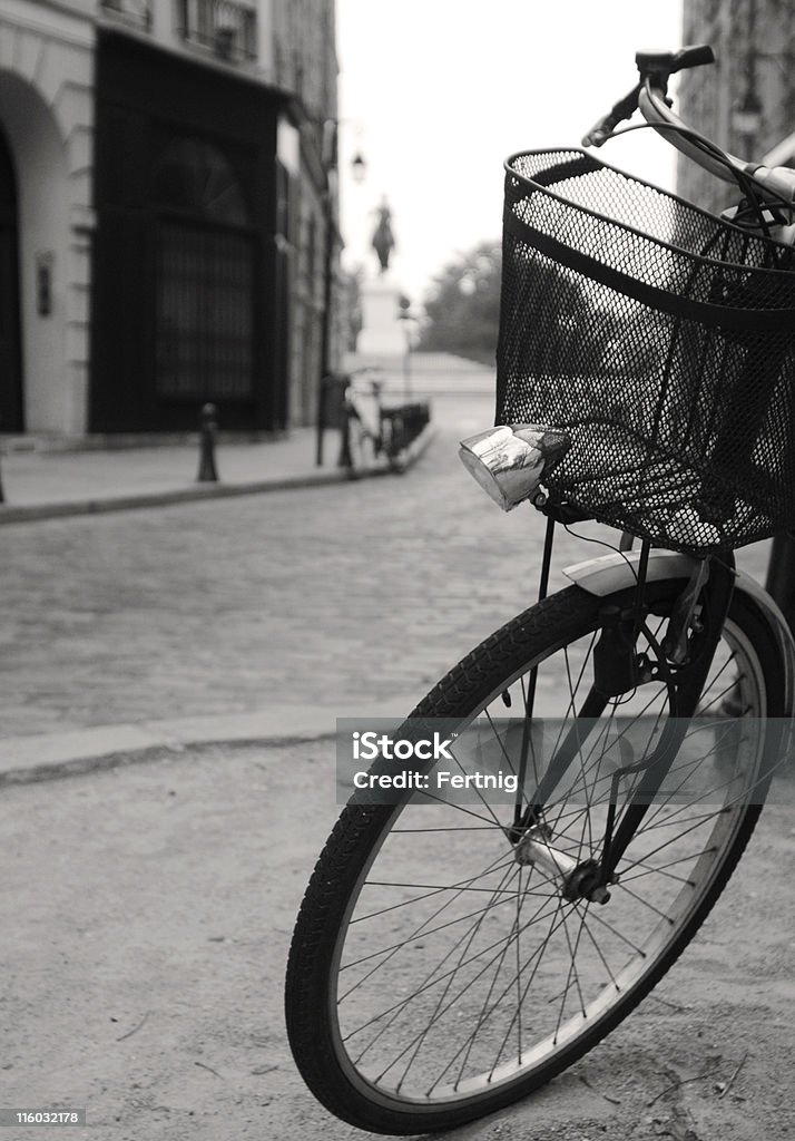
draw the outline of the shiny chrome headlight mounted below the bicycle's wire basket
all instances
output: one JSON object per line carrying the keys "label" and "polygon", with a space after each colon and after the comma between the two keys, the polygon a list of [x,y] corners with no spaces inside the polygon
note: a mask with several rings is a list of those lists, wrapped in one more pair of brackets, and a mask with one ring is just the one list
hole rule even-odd
{"label": "shiny chrome headlight mounted below the bicycle's wire basket", "polygon": [[537,489],[568,451],[562,431],[537,424],[488,428],[461,440],[461,462],[503,511],[511,511]]}

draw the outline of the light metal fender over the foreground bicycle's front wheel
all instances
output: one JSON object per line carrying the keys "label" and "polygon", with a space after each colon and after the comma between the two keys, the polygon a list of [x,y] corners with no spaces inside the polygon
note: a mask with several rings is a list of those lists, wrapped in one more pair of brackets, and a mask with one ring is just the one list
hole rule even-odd
{"label": "light metal fender over the foreground bicycle's front wheel", "polygon": [[[563,574],[581,590],[598,598],[605,598],[619,590],[634,586],[638,581],[638,563],[640,551],[616,551],[598,559],[576,563],[565,567]],[[689,578],[697,560],[679,551],[652,550],[649,552],[647,570],[648,582],[659,582],[663,578]],[[777,604],[755,578],[743,572],[737,572],[735,590],[745,596],[754,607],[778,647],[781,669],[785,678],[786,717],[795,715],[793,685],[795,683],[795,640]]]}

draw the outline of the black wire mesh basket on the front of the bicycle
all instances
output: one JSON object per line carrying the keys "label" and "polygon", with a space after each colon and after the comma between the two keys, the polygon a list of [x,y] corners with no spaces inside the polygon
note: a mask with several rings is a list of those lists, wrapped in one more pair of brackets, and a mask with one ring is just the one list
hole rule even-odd
{"label": "black wire mesh basket on the front of the bicycle", "polygon": [[795,254],[583,151],[506,163],[497,423],[551,493],[706,555],[795,526]]}

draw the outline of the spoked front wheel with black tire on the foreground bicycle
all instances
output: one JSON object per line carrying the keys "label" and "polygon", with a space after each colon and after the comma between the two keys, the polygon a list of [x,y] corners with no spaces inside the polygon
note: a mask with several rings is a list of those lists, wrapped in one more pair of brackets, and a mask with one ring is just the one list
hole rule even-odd
{"label": "spoked front wheel with black tire on the foreground bicycle", "polygon": [[[649,661],[682,586],[648,588],[638,649]],[[598,599],[571,586],[546,599],[455,666],[414,715],[462,727],[478,718],[496,735],[509,703],[524,709],[535,673],[535,715],[571,718],[593,680],[606,612],[632,594]],[[638,827],[606,906],[567,898],[549,867],[518,859],[513,810],[488,792],[469,804],[349,806],[309,883],[287,971],[290,1041],[316,1097],[374,1132],[449,1128],[526,1095],[595,1045],[680,955],[739,859],[768,779],[756,719],[782,715],[782,675],[766,626],[736,596],[671,792]],[[708,720],[727,695],[748,719],[739,728]],[[544,807],[559,859],[599,855],[603,792],[642,755],[639,734],[658,731],[670,712],[659,677],[608,704],[566,792]],[[633,787],[622,779],[618,819]]]}

